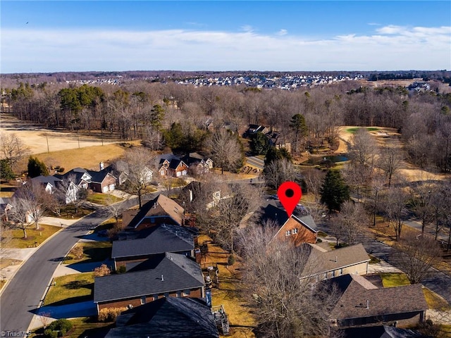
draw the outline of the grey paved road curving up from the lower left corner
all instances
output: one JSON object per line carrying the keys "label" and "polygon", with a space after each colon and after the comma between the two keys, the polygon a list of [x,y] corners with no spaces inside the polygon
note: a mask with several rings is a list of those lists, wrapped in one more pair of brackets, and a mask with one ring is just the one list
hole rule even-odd
{"label": "grey paved road curving up from the lower left corner", "polygon": [[[123,202],[128,208],[137,204],[137,199]],[[87,233],[89,228],[109,218],[94,212],[82,220],[58,232],[23,263],[0,299],[0,332],[26,331],[33,313],[44,297],[58,264],[72,246]]]}

